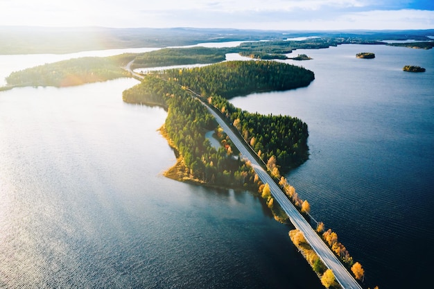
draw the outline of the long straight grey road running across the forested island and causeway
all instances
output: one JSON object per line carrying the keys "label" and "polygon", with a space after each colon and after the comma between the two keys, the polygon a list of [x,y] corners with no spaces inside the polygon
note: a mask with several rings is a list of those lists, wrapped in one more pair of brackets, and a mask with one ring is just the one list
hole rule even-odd
{"label": "long straight grey road running across the forested island and causeway", "polygon": [[[127,64],[126,67],[123,67],[123,69],[130,71],[133,76],[136,78],[143,79],[144,76],[141,76],[138,73],[134,73],[130,66],[134,60],[132,60],[130,63]],[[192,91],[189,89],[191,93],[195,96],[200,96],[195,91]],[[236,135],[232,130],[229,128],[229,125],[225,123],[225,121],[220,117],[219,114],[214,112],[214,110],[209,107],[206,103],[204,103],[202,100],[197,98],[202,105],[205,105],[209,112],[216,118],[216,121],[220,125],[221,128],[226,132],[226,134],[229,136],[229,138],[232,140],[236,148],[241,152],[241,155],[243,157],[250,160],[255,173],[259,176],[261,179],[261,182],[263,184],[268,184],[270,186],[270,192],[273,198],[277,202],[279,202],[280,207],[284,209],[285,213],[288,215],[290,222],[293,223],[294,227],[299,229],[303,232],[304,238],[306,238],[309,245],[311,245],[312,249],[318,254],[322,262],[327,266],[327,268],[333,270],[333,274],[335,275],[336,281],[340,283],[340,286],[344,289],[363,289],[354,279],[354,277],[349,274],[347,268],[345,268],[342,263],[338,260],[338,258],[335,256],[333,252],[331,252],[331,249],[327,247],[327,245],[322,241],[320,236],[316,234],[316,232],[312,229],[309,222],[307,222],[302,214],[295,209],[294,205],[288,200],[285,193],[281,191],[279,186],[274,182],[274,180],[268,175],[267,171],[263,169],[263,167],[259,164],[256,157],[254,157],[254,152],[252,152],[251,148],[245,143],[243,139],[238,138],[238,135]]]}

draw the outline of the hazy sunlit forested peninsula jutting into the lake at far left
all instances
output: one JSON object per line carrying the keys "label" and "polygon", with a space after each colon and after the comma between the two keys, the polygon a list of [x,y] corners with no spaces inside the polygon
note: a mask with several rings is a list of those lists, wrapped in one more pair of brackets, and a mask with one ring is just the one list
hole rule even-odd
{"label": "hazy sunlit forested peninsula jutting into the lake at far left", "polygon": [[111,58],[75,58],[10,73],[10,86],[67,87],[128,76]]}

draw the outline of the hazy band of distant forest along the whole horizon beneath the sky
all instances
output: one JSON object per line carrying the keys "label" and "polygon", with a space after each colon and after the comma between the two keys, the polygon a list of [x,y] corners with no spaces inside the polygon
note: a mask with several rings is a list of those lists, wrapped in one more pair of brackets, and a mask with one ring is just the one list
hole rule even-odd
{"label": "hazy band of distant forest along the whole horizon beneath the sky", "polygon": [[[281,42],[293,37],[320,37],[310,43],[385,44],[383,40],[431,41],[434,30],[294,31],[211,28],[43,28],[0,26],[0,54],[73,53],[103,49],[185,46],[203,42],[267,40]],[[317,42],[317,43],[315,43]],[[288,43],[288,46],[293,44]],[[303,48],[303,47],[298,47]],[[304,47],[320,48],[320,47]],[[250,49],[252,51],[252,49]],[[256,51],[259,53],[261,50]],[[280,52],[277,54],[281,54]]]}

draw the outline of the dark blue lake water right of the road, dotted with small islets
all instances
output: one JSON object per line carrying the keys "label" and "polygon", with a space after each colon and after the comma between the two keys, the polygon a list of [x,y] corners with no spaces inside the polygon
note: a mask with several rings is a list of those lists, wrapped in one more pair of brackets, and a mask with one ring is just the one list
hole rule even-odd
{"label": "dark blue lake water right of the road, dotted with small islets", "polygon": [[[373,52],[372,60],[358,59]],[[309,126],[310,157],[286,175],[311,214],[338,234],[379,288],[430,281],[434,257],[434,51],[341,45],[297,50],[309,87],[234,98]],[[404,65],[426,73],[407,73]],[[416,283],[415,283],[416,282]],[[372,288],[373,286],[371,286]]]}

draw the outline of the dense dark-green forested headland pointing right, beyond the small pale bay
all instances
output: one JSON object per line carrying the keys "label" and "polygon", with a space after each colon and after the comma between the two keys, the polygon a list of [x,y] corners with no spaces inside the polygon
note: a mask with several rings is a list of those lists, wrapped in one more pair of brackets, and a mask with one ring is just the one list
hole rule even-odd
{"label": "dense dark-green forested headland pointing right, beyond the small pale bay", "polygon": [[272,61],[228,61],[193,69],[171,69],[164,74],[202,96],[232,98],[259,91],[305,87],[315,78],[312,71]]}

